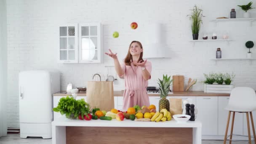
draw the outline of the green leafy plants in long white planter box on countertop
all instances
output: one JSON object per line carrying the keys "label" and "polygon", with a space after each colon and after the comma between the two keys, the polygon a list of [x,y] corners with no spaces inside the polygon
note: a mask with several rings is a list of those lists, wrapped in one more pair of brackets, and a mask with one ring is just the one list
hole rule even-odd
{"label": "green leafy plants in long white planter box on countertop", "polygon": [[230,93],[232,91],[231,82],[235,75],[210,73],[204,76],[206,79],[203,81],[205,93]]}

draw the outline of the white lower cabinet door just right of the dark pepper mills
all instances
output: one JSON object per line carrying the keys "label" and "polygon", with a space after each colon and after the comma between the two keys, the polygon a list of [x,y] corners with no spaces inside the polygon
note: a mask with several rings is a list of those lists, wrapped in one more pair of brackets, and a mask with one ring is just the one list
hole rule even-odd
{"label": "white lower cabinet door just right of the dark pepper mills", "polygon": [[218,97],[197,96],[197,118],[202,122],[202,135],[218,135]]}

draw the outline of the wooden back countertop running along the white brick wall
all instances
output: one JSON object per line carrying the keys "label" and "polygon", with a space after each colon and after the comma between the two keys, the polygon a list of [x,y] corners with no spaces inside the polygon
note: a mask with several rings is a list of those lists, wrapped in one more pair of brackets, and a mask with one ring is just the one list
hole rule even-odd
{"label": "wooden back countertop running along the white brick wall", "polygon": [[[114,91],[114,96],[123,96],[124,91]],[[53,96],[67,96],[66,91],[54,93]],[[77,96],[86,96],[86,92],[77,93]],[[149,96],[159,96],[156,93],[150,93]],[[204,93],[203,91],[174,91],[168,96],[230,96],[230,93]]]}

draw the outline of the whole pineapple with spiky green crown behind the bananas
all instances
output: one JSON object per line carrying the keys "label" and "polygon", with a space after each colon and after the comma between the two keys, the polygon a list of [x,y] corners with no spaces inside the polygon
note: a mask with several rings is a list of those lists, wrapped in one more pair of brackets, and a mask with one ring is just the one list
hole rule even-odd
{"label": "whole pineapple with spiky green crown behind the bananas", "polygon": [[166,99],[166,96],[168,96],[168,92],[170,91],[170,85],[171,82],[171,76],[167,77],[167,75],[163,75],[163,80],[158,79],[158,85],[160,90],[160,100],[159,100],[159,112],[161,109],[167,109],[170,111],[170,102],[168,99]]}

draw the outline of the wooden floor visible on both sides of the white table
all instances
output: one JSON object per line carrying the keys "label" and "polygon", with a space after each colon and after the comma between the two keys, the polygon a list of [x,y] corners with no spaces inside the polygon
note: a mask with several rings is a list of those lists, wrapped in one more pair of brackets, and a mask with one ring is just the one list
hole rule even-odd
{"label": "wooden floor visible on both sides of the white table", "polygon": [[[229,142],[227,141],[227,144]],[[0,137],[0,144],[52,144],[51,139],[42,138],[27,138],[21,139],[19,134],[8,134]],[[223,144],[223,141],[217,140],[203,140],[202,144]],[[240,142],[232,141],[232,144],[241,144]]]}

